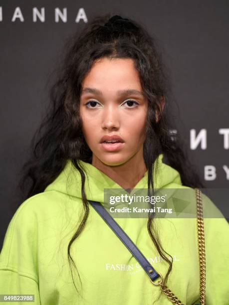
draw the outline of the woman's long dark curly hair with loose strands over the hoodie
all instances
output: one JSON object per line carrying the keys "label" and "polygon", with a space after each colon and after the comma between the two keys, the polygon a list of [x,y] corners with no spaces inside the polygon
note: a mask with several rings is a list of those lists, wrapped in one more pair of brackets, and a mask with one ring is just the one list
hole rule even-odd
{"label": "woman's long dark curly hair with loose strands over the hoodie", "polygon": [[[131,58],[139,72],[142,90],[149,102],[143,147],[149,192],[154,192],[153,172],[157,172],[157,157],[160,153],[164,154],[170,166],[179,171],[184,185],[194,188],[203,187],[203,184],[191,166],[179,136],[174,141],[170,135],[170,130],[176,129],[169,111],[170,79],[156,39],[149,35],[143,25],[118,15],[97,16],[84,29],[70,37],[65,47],[64,60],[57,69],[57,78],[50,90],[47,115],[33,137],[31,157],[23,166],[19,185],[24,194],[23,199],[26,199],[43,192],[63,170],[67,159],[79,171],[84,215],[67,249],[72,274],[72,266],[76,266],[70,248],[82,233],[89,214],[84,189],[86,173],[78,160],[92,162],[92,151],[82,133],[79,101],[82,81],[95,60],[103,57]],[[173,258],[163,248],[153,220],[149,216],[147,228],[158,253],[168,263],[164,279],[166,283],[172,270]]]}

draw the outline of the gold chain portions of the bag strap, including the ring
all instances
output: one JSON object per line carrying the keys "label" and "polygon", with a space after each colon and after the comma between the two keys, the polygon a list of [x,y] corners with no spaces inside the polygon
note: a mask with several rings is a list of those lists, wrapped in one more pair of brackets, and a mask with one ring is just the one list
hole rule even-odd
{"label": "gold chain portions of the bag strap, including the ring", "polygon": [[[202,196],[201,190],[196,188],[197,197],[197,228],[198,228],[198,247],[199,247],[199,262],[200,262],[200,303],[205,305],[205,234],[204,234],[204,219],[203,219],[203,206],[202,206]],[[158,272],[161,280],[154,283],[151,279],[150,281],[155,285],[160,285],[161,290],[170,299],[170,301],[175,305],[184,305],[178,298],[172,293],[166,285],[163,284],[163,277]]]}

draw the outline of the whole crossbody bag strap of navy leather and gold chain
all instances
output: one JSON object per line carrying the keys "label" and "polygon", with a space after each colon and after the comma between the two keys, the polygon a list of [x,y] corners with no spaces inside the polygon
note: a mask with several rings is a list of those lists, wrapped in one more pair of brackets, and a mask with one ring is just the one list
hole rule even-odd
{"label": "whole crossbody bag strap of navy leather and gold chain", "polygon": [[[196,188],[196,202],[197,202],[197,229],[198,229],[198,249],[199,249],[199,263],[200,263],[200,304],[205,305],[205,284],[206,284],[206,263],[205,263],[205,235],[204,235],[204,219],[203,219],[203,206],[202,206],[202,193],[199,188]],[[160,286],[161,290],[175,305],[184,305],[172,293],[172,291],[163,283],[163,276],[157,272],[153,266],[148,262],[146,257],[133,243],[129,236],[123,231],[114,218],[107,212],[104,206],[93,200],[88,200],[96,212],[103,218],[107,225],[119,237],[127,249],[136,258],[145,272],[148,274],[151,283],[154,286]],[[157,280],[158,279],[158,280]],[[157,282],[154,282],[157,280]],[[198,304],[196,304],[198,305]]]}

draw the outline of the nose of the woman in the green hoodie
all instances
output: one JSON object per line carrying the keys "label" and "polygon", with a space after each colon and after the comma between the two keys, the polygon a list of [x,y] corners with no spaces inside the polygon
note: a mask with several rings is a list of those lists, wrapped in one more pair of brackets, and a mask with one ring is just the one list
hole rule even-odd
{"label": "nose of the woman in the green hoodie", "polygon": [[109,105],[104,108],[102,129],[117,130],[120,127],[120,115],[117,106]]}

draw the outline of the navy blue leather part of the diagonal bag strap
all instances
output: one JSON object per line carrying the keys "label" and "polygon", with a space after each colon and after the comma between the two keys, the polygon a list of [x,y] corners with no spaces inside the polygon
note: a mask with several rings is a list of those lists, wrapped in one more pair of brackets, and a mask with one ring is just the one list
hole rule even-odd
{"label": "navy blue leather part of the diagonal bag strap", "polygon": [[114,218],[107,212],[104,206],[98,201],[88,200],[96,212],[103,218],[103,220],[108,224],[108,226],[114,231],[114,233],[119,237],[127,249],[133,254],[145,272],[148,274],[152,281],[159,278],[161,275],[156,272],[152,265],[147,261],[142,252],[133,243],[129,236],[123,231],[120,225],[114,220]]}

